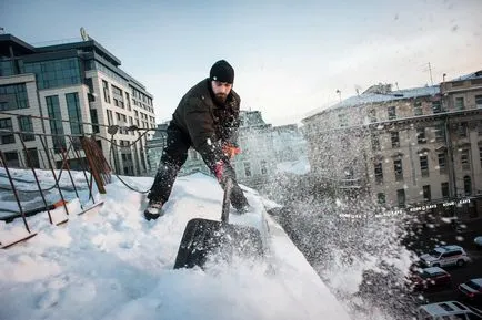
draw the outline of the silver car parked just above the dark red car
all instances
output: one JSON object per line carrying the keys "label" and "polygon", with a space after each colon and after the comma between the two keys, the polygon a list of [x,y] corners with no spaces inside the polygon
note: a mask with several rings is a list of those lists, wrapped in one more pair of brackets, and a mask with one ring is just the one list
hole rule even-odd
{"label": "silver car parked just above the dark red car", "polygon": [[429,254],[420,257],[420,262],[425,267],[463,266],[470,261],[469,256],[461,246],[450,245],[436,247]]}

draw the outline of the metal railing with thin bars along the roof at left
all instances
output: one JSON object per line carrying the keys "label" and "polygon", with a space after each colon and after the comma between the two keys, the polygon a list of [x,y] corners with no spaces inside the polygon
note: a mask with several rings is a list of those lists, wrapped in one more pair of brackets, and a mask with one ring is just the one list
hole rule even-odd
{"label": "metal railing with thin bars along the roof at left", "polygon": [[[49,117],[9,112],[0,112],[0,114],[52,121]],[[144,135],[149,131],[155,131],[154,128],[77,123],[107,127],[107,134],[102,136],[98,133],[49,134],[0,130],[0,137],[13,136],[13,141],[20,142],[21,145],[14,151],[11,151],[11,147],[7,148],[8,145],[0,145],[0,195],[2,202],[0,220],[11,223],[21,219],[26,230],[21,236],[2,235],[4,231],[0,230],[1,248],[9,248],[37,235],[29,223],[31,216],[46,213],[50,224],[62,225],[69,220],[69,216],[72,214],[82,215],[101,206],[103,202],[96,200],[99,198],[96,197],[96,193],[106,193],[104,186],[111,183],[112,175],[116,175],[128,188],[142,194],[148,193],[148,190],[139,190],[127,184],[113,171],[112,164],[116,157],[119,159],[123,153],[125,154],[128,151],[131,153],[131,147],[135,148],[135,144],[142,143],[141,140]],[[116,143],[116,138],[119,138],[118,135],[128,131],[140,133],[133,142],[125,143],[124,140],[121,144]],[[107,138],[107,135],[110,135],[110,138]],[[34,142],[32,137],[34,137]],[[54,144],[56,138],[61,138],[64,143]],[[109,156],[107,157],[99,144],[99,141],[102,140],[109,145]],[[8,141],[10,142],[10,138]],[[34,148],[32,148],[33,145]],[[8,152],[9,149],[10,152]],[[121,163],[129,163],[129,161],[122,159]],[[32,199],[36,200],[32,202]],[[76,199],[80,203],[81,211],[72,213],[68,205]]]}

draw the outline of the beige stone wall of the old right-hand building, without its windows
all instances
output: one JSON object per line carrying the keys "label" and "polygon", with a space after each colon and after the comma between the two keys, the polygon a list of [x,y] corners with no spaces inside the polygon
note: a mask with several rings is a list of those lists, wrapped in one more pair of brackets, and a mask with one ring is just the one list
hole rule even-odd
{"label": "beige stone wall of the old right-hand building, without its windows", "polygon": [[[469,196],[463,192],[464,176],[471,177],[470,196],[481,194],[482,128],[479,127],[482,127],[482,110],[475,105],[475,96],[481,93],[474,90],[465,93],[460,91],[461,85],[456,87],[454,95],[448,94],[444,99],[441,99],[440,92],[428,94],[430,90],[426,87],[400,91],[405,96],[394,92],[393,99],[388,95],[349,99],[349,103],[342,102],[341,107],[332,107],[304,120],[303,134],[309,144],[312,174],[320,182],[342,182],[343,168],[355,158],[362,161],[363,165],[355,166],[355,178],[363,182],[366,177],[366,196],[378,200],[383,194],[390,207],[402,205],[399,204],[398,190],[404,192],[403,205]],[[455,97],[460,96],[466,101],[466,111],[455,109]],[[361,103],[353,103],[357,100]],[[352,105],[343,106],[350,102]],[[394,111],[394,114],[390,116],[389,111]],[[459,127],[465,122],[468,137],[460,137]],[[419,141],[418,130],[424,130],[424,142]],[[395,136],[396,133],[399,144],[392,145],[392,134]],[[373,136],[379,137],[379,147]],[[344,143],[347,140],[349,143]],[[470,151],[470,166],[462,165],[463,149]],[[440,167],[439,154],[445,155],[444,168]],[[428,171],[422,174],[423,156],[428,159]],[[402,175],[398,177],[396,161],[402,164]],[[378,163],[382,165],[382,180],[375,175]],[[449,194],[442,194],[442,183],[449,185]],[[430,186],[430,197],[424,195],[424,186]]]}

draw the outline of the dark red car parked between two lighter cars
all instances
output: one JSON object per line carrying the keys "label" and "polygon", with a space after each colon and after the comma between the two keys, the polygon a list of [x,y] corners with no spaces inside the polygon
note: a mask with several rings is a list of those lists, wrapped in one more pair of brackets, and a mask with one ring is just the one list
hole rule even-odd
{"label": "dark red car parked between two lighter cars", "polygon": [[409,276],[409,287],[414,291],[452,286],[452,277],[440,267],[420,269]]}

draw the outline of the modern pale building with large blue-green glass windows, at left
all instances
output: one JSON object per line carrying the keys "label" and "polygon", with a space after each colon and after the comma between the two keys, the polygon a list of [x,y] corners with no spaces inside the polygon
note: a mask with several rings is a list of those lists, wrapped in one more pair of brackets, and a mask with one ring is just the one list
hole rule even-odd
{"label": "modern pale building with large blue-green glass windows, at left", "polygon": [[[145,142],[152,134],[125,127],[155,127],[152,95],[120,69],[117,56],[82,37],[83,41],[33,47],[12,34],[0,34],[0,128],[58,134],[47,138],[57,166],[69,145],[63,135],[94,133],[116,173],[143,175],[148,171]],[[120,130],[111,135],[100,125]],[[24,137],[34,165],[47,168],[39,137]],[[111,140],[120,147],[111,148]],[[18,152],[22,149],[18,135],[3,131],[0,147],[9,164],[26,164],[24,154]],[[71,167],[76,165],[72,159]]]}

